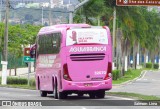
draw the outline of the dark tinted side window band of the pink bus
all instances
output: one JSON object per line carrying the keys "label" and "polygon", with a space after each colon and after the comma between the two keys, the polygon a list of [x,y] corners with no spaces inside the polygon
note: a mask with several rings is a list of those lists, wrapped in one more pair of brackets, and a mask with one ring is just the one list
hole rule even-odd
{"label": "dark tinted side window band of the pink bus", "polygon": [[38,54],[57,54],[60,51],[61,33],[40,35]]}

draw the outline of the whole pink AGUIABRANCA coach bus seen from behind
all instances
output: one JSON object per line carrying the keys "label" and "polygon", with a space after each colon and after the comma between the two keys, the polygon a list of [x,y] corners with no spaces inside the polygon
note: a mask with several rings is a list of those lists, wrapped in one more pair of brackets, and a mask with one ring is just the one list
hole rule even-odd
{"label": "whole pink AGUIABRANCA coach bus seen from behind", "polygon": [[89,94],[104,98],[112,88],[112,44],[107,26],[59,24],[40,29],[31,48],[36,88],[42,97]]}

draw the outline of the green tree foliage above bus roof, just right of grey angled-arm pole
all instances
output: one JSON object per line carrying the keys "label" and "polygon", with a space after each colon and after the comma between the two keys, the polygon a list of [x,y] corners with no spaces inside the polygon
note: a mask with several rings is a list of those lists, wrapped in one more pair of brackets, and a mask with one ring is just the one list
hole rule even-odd
{"label": "green tree foliage above bus roof, just right of grey angled-arm pole", "polygon": [[104,0],[90,0],[79,10],[76,11],[74,17],[75,23],[86,22],[88,24],[96,25],[97,17],[104,16],[106,12]]}

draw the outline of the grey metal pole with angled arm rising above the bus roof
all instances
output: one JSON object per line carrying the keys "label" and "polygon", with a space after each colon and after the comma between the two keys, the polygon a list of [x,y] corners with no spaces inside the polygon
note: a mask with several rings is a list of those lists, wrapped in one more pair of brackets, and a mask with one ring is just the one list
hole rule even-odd
{"label": "grey metal pole with angled arm rising above the bus roof", "polygon": [[69,23],[73,23],[73,13],[75,10],[77,10],[78,8],[80,8],[81,6],[83,6],[85,3],[87,3],[89,0],[84,0],[83,2],[79,3],[78,5],[76,5],[75,7],[73,5],[69,6]]}

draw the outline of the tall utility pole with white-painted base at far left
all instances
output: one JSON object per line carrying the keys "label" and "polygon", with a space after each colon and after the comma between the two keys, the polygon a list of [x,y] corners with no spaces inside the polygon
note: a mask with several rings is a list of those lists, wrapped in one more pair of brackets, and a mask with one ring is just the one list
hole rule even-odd
{"label": "tall utility pole with white-painted base at far left", "polygon": [[4,48],[3,48],[3,55],[2,55],[2,61],[1,61],[1,64],[2,64],[2,85],[7,84],[8,16],[9,16],[9,0],[6,0]]}

